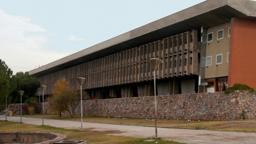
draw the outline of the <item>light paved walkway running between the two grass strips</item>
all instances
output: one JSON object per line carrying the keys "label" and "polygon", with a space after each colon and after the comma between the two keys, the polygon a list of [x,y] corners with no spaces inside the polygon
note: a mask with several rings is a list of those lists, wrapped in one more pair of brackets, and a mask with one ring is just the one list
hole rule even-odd
{"label": "light paved walkway running between the two grass strips", "polygon": [[[0,116],[0,120],[5,120],[5,116]],[[15,116],[8,116],[7,120],[12,122],[21,122],[21,118]],[[41,125],[42,119],[22,117],[22,122],[25,124]],[[81,128],[81,122],[67,120],[44,119],[44,125],[69,129]],[[126,126],[83,122],[83,128],[85,130],[98,131],[115,136],[150,138],[155,135],[155,127],[146,126]],[[189,144],[256,144],[256,133],[184,130],[173,128],[158,128],[157,131],[158,137],[161,137],[163,140],[173,140]]]}

